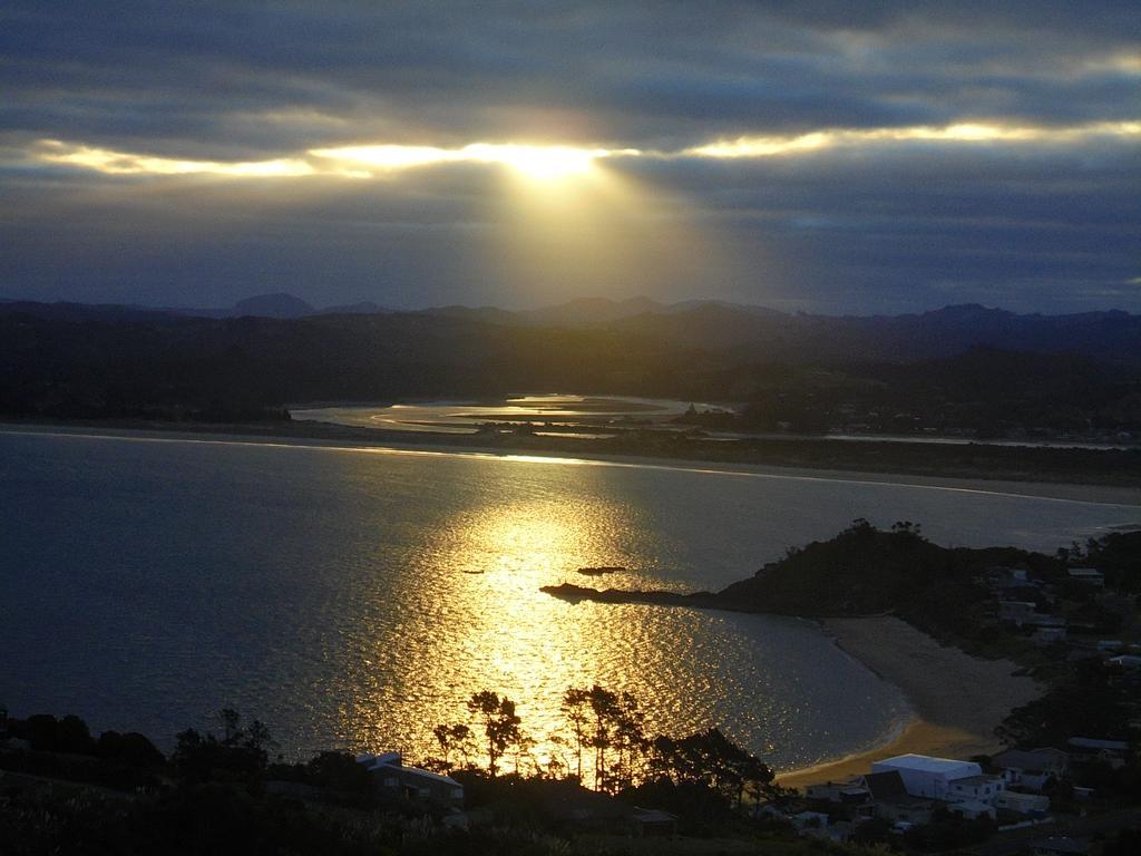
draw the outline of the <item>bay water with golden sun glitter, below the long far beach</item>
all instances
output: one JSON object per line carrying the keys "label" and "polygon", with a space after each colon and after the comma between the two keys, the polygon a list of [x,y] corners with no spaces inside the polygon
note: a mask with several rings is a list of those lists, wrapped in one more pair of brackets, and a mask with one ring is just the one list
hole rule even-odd
{"label": "bay water with golden sun glitter, below the long far beach", "polygon": [[788,768],[881,738],[905,701],[793,620],[569,605],[718,588],[853,517],[1053,550],[1141,509],[915,486],[172,438],[0,434],[0,703],[170,745],[233,705],[286,754],[432,748],[491,688],[540,750],[570,685],[710,725]]}

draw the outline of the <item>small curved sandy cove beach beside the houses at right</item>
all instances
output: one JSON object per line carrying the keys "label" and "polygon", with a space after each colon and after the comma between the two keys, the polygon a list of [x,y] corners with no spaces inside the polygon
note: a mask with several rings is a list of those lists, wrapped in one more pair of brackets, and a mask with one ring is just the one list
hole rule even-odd
{"label": "small curved sandy cove beach beside the houses at right", "polygon": [[1031,678],[1013,675],[1018,664],[941,646],[900,619],[828,619],[822,624],[842,649],[899,687],[916,716],[883,745],[778,776],[787,786],[849,778],[867,773],[875,760],[907,752],[952,758],[992,753],[1000,748],[995,726],[1043,691]]}

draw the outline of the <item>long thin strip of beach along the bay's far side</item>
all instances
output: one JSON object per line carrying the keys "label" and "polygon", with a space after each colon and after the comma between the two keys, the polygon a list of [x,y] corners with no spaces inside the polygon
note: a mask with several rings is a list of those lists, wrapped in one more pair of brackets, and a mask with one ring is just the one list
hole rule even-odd
{"label": "long thin strip of beach along the bay's far side", "polygon": [[[321,423],[315,423],[321,425]],[[885,484],[961,493],[1028,496],[1057,502],[1084,502],[1106,506],[1136,507],[1138,527],[1141,528],[1141,485],[1018,481],[1002,478],[965,478],[933,476],[906,471],[832,469],[815,467],[785,467],[766,463],[720,462],[696,458],[639,455],[591,450],[525,449],[496,445],[458,443],[454,435],[432,439],[410,437],[393,431],[366,429],[370,434],[390,436],[359,436],[359,433],[298,433],[266,430],[265,426],[178,426],[178,425],[91,425],[51,422],[11,422],[0,420],[0,435],[74,435],[111,439],[154,439],[156,442],[241,443],[250,445],[291,446],[299,449],[331,449],[342,451],[420,453],[442,457],[477,457],[531,462],[568,465],[597,465],[612,467],[675,469],[690,473],[710,473],[729,476],[792,479],[804,482],[844,482],[849,484]],[[340,435],[340,436],[338,436]],[[391,436],[395,435],[395,436]],[[467,435],[462,435],[467,436]]]}

